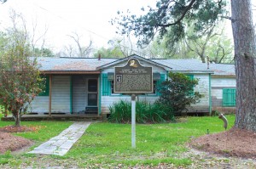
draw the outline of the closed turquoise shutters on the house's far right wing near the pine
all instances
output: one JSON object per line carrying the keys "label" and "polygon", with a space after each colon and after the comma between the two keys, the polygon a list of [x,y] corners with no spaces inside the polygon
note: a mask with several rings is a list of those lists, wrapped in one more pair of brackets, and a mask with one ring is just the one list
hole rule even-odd
{"label": "closed turquoise shutters on the house's far right wing near the pine", "polygon": [[222,97],[222,105],[224,107],[236,106],[236,88],[224,88]]}

